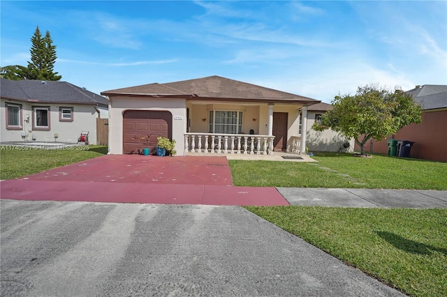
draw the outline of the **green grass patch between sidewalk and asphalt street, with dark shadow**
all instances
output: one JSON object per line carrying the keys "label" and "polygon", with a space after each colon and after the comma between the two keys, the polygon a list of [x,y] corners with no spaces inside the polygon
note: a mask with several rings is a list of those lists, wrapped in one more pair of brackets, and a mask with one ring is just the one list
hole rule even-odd
{"label": "green grass patch between sidewalk and asphalt street, with dark shadow", "polygon": [[246,207],[410,296],[447,296],[447,209]]}

